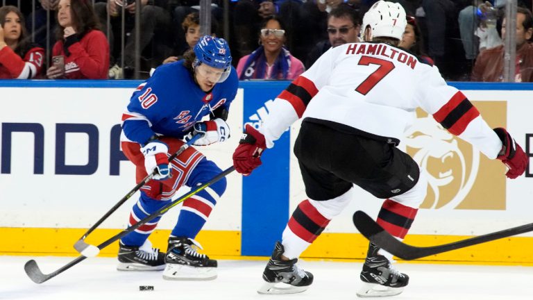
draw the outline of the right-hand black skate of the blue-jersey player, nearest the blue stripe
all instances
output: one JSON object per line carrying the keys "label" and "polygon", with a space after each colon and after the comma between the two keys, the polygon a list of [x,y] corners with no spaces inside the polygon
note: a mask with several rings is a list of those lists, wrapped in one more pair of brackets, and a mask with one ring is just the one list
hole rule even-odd
{"label": "right-hand black skate of the blue-jersey player, nearest the blue stripe", "polygon": [[169,238],[163,278],[167,280],[211,280],[217,278],[217,260],[196,252],[201,248],[190,238]]}

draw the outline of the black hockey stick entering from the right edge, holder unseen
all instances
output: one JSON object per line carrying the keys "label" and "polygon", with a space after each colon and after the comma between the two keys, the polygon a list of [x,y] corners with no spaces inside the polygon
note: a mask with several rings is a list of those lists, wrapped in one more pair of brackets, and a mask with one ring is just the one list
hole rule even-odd
{"label": "black hockey stick entering from the right edge, holder unseen", "polygon": [[394,238],[394,236],[385,231],[378,223],[369,217],[369,215],[366,215],[366,213],[363,213],[360,210],[357,210],[355,214],[353,214],[353,224],[355,224],[357,230],[359,230],[359,232],[373,244],[404,260],[414,260],[417,258],[432,256],[434,254],[457,250],[475,244],[482,244],[484,242],[490,242],[500,238],[507,238],[512,235],[533,231],[533,223],[531,223],[449,244],[433,247],[415,247],[400,242]]}

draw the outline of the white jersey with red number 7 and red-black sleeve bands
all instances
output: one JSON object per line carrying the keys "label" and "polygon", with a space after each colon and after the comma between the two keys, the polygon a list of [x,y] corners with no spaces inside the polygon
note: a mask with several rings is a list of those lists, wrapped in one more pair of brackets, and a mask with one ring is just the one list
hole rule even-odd
{"label": "white jersey with red number 7 and red-black sleeve bands", "polygon": [[496,158],[502,147],[498,135],[462,92],[446,84],[437,67],[377,42],[344,44],[325,52],[278,96],[260,131],[273,147],[288,126],[309,117],[402,140],[418,107],[450,133]]}

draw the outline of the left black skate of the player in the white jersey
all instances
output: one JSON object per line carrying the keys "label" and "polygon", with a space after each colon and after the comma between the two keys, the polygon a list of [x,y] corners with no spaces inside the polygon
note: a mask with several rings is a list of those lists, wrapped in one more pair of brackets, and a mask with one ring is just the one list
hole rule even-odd
{"label": "left black skate of the player in the white jersey", "polygon": [[258,293],[294,294],[307,290],[313,283],[313,274],[305,272],[296,265],[298,258],[292,260],[281,259],[284,251],[283,245],[280,242],[276,242],[272,257],[263,272],[263,279],[267,282],[257,290]]}

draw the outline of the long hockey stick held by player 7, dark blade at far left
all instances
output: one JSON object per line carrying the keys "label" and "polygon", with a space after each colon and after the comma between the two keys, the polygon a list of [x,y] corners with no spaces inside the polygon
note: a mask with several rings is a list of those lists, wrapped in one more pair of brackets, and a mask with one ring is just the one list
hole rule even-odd
{"label": "long hockey stick held by player 7, dark blade at far left", "polygon": [[[144,219],[140,220],[133,226],[130,226],[129,228],[124,229],[124,231],[121,231],[117,235],[113,236],[112,238],[106,240],[105,242],[99,244],[96,248],[104,249],[105,247],[108,247],[110,244],[115,242],[116,240],[119,240],[120,238],[124,237],[124,235],[127,235],[128,233],[135,231],[135,229],[139,228],[139,226],[142,226],[143,224],[146,224],[147,222],[150,222],[155,217],[158,217],[159,215],[162,215],[164,213],[167,213],[167,211],[174,206],[177,206],[179,203],[182,203],[185,201],[185,199],[191,197],[192,195],[200,192],[201,190],[207,188],[208,186],[212,185],[213,183],[216,183],[221,178],[225,177],[226,175],[230,174],[235,170],[235,167],[229,167],[228,169],[224,170],[217,176],[214,176],[210,181],[207,183],[203,183],[203,185],[199,185],[196,189],[188,192],[187,194],[183,195],[179,199],[176,199],[176,201],[172,201],[171,203],[167,204],[166,206],[163,206],[159,210],[157,210],[155,213],[151,213],[151,215],[146,216]],[[26,265],[24,265],[24,271],[26,271],[26,274],[28,277],[35,283],[44,283],[44,281],[48,281],[50,278],[53,278],[55,276],[58,276],[58,274],[61,274],[62,272],[65,272],[65,270],[70,269],[74,265],[77,265],[81,261],[85,260],[87,256],[78,256],[76,259],[72,260],[70,263],[67,263],[67,265],[64,265],[63,267],[60,267],[54,272],[51,272],[50,274],[44,274],[41,272],[39,266],[35,262],[35,260],[28,260],[26,262]]]}

